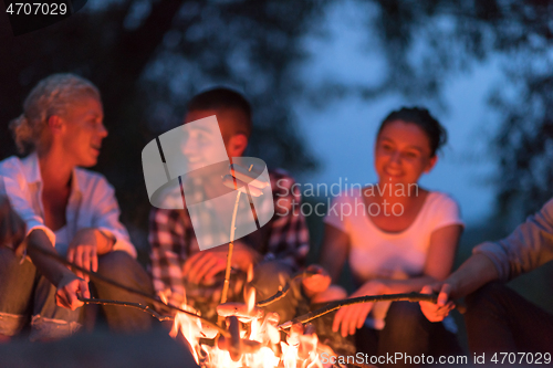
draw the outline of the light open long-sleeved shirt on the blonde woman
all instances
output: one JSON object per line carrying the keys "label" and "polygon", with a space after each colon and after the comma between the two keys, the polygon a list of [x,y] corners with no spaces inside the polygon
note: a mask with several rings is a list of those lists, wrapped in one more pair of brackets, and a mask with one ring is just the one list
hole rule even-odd
{"label": "light open long-sleeved shirt on the blonde woman", "polygon": [[[128,232],[119,222],[115,191],[107,180],[97,172],[75,168],[71,186],[65,210],[69,239],[73,239],[79,229],[95,228],[115,239],[114,251],[125,251],[136,257]],[[42,177],[36,154],[32,153],[23,159],[13,156],[0,161],[0,194],[8,196],[11,206],[23,219],[27,234],[41,229],[55,246],[55,234],[44,225]]]}

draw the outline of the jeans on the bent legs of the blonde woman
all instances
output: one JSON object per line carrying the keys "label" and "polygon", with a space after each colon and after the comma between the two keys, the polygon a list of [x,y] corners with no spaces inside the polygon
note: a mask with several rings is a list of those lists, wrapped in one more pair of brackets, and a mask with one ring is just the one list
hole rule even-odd
{"label": "jeans on the bent legs of the blonde woman", "polygon": [[[98,257],[98,273],[128,287],[152,294],[146,271],[127,253],[111,252]],[[142,297],[101,283],[94,284],[98,298],[140,303]],[[82,308],[70,311],[55,304],[55,287],[25,260],[7,248],[0,248],[0,334],[15,336],[31,324],[31,340],[55,339],[81,328]],[[148,329],[153,318],[142,311],[103,306],[107,324],[114,332],[136,333]]]}

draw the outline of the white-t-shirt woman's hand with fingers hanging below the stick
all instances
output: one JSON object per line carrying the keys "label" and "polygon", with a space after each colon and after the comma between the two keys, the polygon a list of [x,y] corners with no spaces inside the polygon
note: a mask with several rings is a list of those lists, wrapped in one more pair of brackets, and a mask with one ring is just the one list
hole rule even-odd
{"label": "white-t-shirt woman's hand with fingers hanging below the stick", "polygon": [[[367,296],[367,295],[382,295],[386,291],[383,282],[377,280],[372,280],[366,282],[359,290],[349,295],[352,297]],[[340,329],[342,336],[354,335],[357,328],[363,327],[367,315],[373,308],[373,303],[362,303],[342,307],[336,312],[334,316],[334,323],[332,324],[332,330],[337,332]]]}

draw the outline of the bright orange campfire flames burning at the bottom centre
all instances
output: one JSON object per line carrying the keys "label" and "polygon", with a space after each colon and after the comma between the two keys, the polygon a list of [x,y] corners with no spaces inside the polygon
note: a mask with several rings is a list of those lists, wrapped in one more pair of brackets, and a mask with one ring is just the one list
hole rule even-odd
{"label": "bright orange campfire flames burning at the bottom centre", "polygon": [[[334,351],[319,343],[314,327],[292,325],[290,332],[281,333],[276,313],[264,313],[255,306],[255,291],[249,288],[246,303],[223,303],[217,313],[225,320],[227,333],[202,324],[190,306],[182,304],[188,313],[177,312],[170,332],[171,337],[186,339],[186,345],[200,367],[251,367],[251,368],[323,368],[320,354]],[[165,295],[160,295],[164,302]],[[281,339],[285,335],[285,340]]]}

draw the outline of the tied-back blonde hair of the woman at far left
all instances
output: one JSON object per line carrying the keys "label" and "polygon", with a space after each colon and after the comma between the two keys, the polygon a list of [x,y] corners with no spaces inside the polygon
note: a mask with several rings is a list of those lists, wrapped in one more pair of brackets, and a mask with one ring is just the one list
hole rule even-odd
{"label": "tied-back blonde hair of the woman at far left", "polygon": [[100,99],[100,91],[92,82],[74,74],[52,74],[40,81],[23,103],[23,114],[10,122],[10,129],[20,154],[36,148],[45,139],[48,119],[64,115],[67,106],[80,98],[92,96]]}

